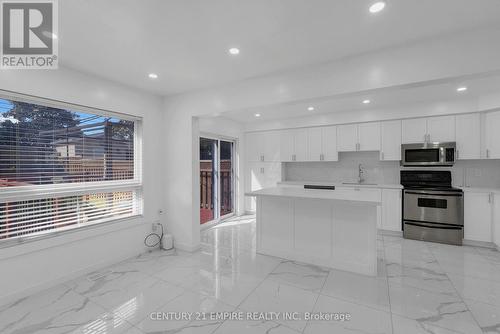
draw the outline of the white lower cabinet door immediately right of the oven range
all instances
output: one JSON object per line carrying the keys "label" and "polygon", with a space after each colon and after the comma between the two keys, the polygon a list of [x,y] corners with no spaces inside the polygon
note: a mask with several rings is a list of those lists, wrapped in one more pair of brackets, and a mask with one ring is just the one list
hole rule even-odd
{"label": "white lower cabinet door immediately right of the oven range", "polygon": [[464,193],[464,239],[492,241],[491,197],[490,193]]}

